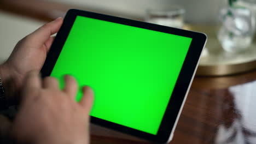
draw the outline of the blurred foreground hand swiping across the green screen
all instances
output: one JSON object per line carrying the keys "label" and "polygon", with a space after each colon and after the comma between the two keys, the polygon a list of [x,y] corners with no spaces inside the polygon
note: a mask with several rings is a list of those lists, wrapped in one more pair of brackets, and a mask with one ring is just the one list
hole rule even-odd
{"label": "blurred foreground hand swiping across the green screen", "polygon": [[65,76],[61,91],[53,77],[43,81],[30,73],[22,91],[21,107],[13,125],[13,136],[26,143],[89,143],[89,113],[93,102],[90,87],[83,87],[83,98],[77,103],[78,85]]}

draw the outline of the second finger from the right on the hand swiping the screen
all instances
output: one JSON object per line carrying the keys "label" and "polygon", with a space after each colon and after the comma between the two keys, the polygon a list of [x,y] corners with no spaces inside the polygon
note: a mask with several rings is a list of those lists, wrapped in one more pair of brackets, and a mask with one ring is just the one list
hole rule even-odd
{"label": "second finger from the right on the hand swiping the screen", "polygon": [[71,98],[75,98],[78,91],[78,84],[77,81],[74,79],[73,76],[65,75],[65,87],[63,89],[64,92],[66,92]]}

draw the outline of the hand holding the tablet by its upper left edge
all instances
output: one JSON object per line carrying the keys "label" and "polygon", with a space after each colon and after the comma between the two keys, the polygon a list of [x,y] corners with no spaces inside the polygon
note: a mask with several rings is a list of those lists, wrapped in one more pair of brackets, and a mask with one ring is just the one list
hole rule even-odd
{"label": "hand holding the tablet by its upper left edge", "polygon": [[15,95],[15,92],[19,93],[28,71],[42,69],[54,40],[51,35],[59,31],[62,22],[60,17],[27,35],[15,46],[7,61],[0,65],[0,76],[8,98]]}

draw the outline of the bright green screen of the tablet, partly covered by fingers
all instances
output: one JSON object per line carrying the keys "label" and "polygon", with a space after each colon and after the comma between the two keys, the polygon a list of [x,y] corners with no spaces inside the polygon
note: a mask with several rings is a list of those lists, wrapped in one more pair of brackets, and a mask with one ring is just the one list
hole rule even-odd
{"label": "bright green screen of the tablet, partly covered by fingers", "polygon": [[92,87],[91,116],[156,135],[191,40],[77,16],[51,76]]}

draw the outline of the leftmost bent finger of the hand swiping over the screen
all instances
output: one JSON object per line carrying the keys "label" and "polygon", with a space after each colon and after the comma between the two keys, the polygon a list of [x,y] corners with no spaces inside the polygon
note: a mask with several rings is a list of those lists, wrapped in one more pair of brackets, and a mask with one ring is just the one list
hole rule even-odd
{"label": "leftmost bent finger of the hand swiping over the screen", "polygon": [[25,78],[25,89],[41,88],[41,78],[38,71],[30,71]]}

